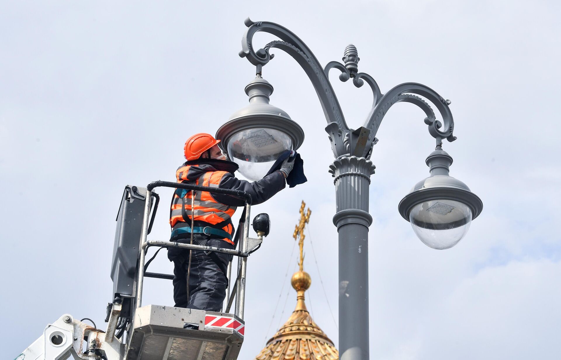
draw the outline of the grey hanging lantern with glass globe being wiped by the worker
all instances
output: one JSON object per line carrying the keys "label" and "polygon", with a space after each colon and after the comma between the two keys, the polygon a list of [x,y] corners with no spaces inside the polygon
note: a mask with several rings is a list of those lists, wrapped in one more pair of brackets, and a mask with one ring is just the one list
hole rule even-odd
{"label": "grey hanging lantern with glass globe being wiped by the worker", "polygon": [[304,131],[288,114],[269,104],[273,86],[259,75],[245,88],[249,105],[234,112],[220,126],[216,138],[238,171],[249,180],[260,180],[280,154],[296,150],[304,142]]}

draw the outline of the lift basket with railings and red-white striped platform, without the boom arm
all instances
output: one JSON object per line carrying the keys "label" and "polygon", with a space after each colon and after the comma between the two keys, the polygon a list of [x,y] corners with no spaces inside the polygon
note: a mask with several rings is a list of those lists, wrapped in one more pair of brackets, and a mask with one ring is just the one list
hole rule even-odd
{"label": "lift basket with railings and red-white striped platform, without the boom arm", "polygon": [[[207,191],[211,193],[227,193],[245,199],[245,218],[243,219],[243,234],[240,236],[239,249],[213,248],[201,245],[171,243],[169,241],[148,240],[150,232],[150,207],[151,200],[155,199],[157,208],[158,196],[152,192],[156,186],[168,186],[187,190]],[[131,188],[131,190],[135,190]],[[130,302],[132,322],[127,331],[126,351],[124,359],[185,359],[185,360],[223,360],[236,359],[243,343],[245,323],[243,322],[243,308],[245,303],[245,276],[247,256],[249,255],[249,218],[251,197],[244,192],[211,188],[192,184],[169,183],[156,181],[146,189],[136,188],[136,192],[144,195],[144,211],[142,213],[142,226],[140,234],[139,259],[136,276],[134,298]],[[126,208],[122,206],[122,208]],[[135,209],[135,218],[137,215]],[[126,215],[126,214],[123,214]],[[154,212],[153,212],[154,215]],[[152,216],[154,218],[154,216]],[[117,233],[119,235],[119,233]],[[137,235],[137,234],[134,234]],[[117,241],[116,236],[116,241]],[[137,238],[138,239],[138,238]],[[255,247],[261,239],[252,242]],[[238,271],[236,281],[231,283],[231,263],[228,266],[228,289],[234,286],[232,296],[227,294],[223,308],[224,313],[209,312],[197,309],[185,309],[165,306],[141,306],[144,277],[170,278],[165,274],[145,272],[146,250],[149,247],[182,247],[214,252],[232,254],[238,257]],[[128,284],[127,284],[128,285]],[[128,288],[129,286],[127,286]],[[115,286],[119,289],[121,286]],[[229,291],[228,291],[229,293]],[[116,294],[117,295],[117,294]],[[129,295],[130,296],[130,295]],[[236,304],[233,313],[229,313],[233,298]],[[187,326],[187,328],[185,328]]]}

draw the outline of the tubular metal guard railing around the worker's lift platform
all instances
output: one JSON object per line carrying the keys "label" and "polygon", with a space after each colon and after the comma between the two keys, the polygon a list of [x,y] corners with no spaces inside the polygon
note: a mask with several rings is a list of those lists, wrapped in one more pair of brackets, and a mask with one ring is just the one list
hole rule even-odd
{"label": "tubular metal guard railing around the worker's lift platform", "polygon": [[[226,249],[217,248],[204,245],[195,244],[182,244],[173,241],[162,241],[162,240],[148,240],[148,234],[150,233],[150,227],[154,220],[155,211],[157,206],[154,206],[152,218],[150,219],[150,209],[152,205],[152,198],[158,199],[158,194],[154,193],[153,190],[159,186],[165,188],[175,188],[175,189],[186,189],[195,191],[204,191],[209,193],[217,194],[227,194],[233,195],[234,197],[243,199],[245,201],[245,217],[242,219],[243,222],[243,233],[239,236],[238,249]],[[144,277],[154,277],[157,279],[173,279],[173,275],[159,274],[155,272],[145,272],[145,260],[146,252],[150,247],[167,247],[167,248],[185,248],[191,250],[203,250],[207,252],[218,252],[224,254],[230,254],[238,258],[237,261],[237,275],[233,283],[232,288],[232,261],[228,263],[227,277],[228,277],[228,288],[226,290],[226,298],[224,299],[223,309],[224,312],[228,313],[232,307],[234,297],[236,298],[236,303],[234,306],[234,315],[240,317],[243,320],[243,310],[245,307],[245,279],[247,271],[247,257],[250,255],[248,249],[248,239],[249,239],[249,226],[250,226],[250,210],[251,210],[251,195],[240,190],[231,189],[220,189],[213,188],[209,186],[193,185],[193,184],[181,184],[173,183],[172,181],[154,181],[147,186],[146,190],[146,202],[144,206],[144,215],[142,217],[142,232],[140,236],[140,260],[138,267],[138,278],[136,286],[135,303],[136,308],[142,306],[142,290],[144,285]]]}

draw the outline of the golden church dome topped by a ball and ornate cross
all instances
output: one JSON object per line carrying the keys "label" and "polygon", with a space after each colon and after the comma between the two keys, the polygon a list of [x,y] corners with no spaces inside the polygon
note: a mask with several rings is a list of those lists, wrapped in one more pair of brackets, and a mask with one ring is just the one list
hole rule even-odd
{"label": "golden church dome topped by a ball and ornate cross", "polygon": [[339,352],[327,335],[314,322],[307,311],[304,293],[311,285],[310,274],[304,271],[304,228],[310,221],[311,211],[300,207],[300,221],[293,238],[299,239],[300,271],[292,275],[292,288],[296,290],[296,308],[288,321],[267,341],[256,360],[338,360]]}

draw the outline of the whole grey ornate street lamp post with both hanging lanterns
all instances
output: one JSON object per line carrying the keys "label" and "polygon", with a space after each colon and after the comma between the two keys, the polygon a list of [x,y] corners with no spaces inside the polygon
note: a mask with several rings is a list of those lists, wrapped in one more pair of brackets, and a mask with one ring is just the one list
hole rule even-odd
{"label": "whole grey ornate street lamp post with both hanging lanterns", "polygon": [[[429,247],[447,249],[466,234],[473,218],[482,210],[482,202],[461,181],[448,175],[452,157],[442,150],[442,140],[456,140],[454,121],[448,105],[434,90],[417,83],[404,83],[382,94],[376,81],[358,72],[357,49],[348,45],[343,63],[329,62],[324,69],[300,38],[273,22],[253,22],[242,38],[241,57],[256,66],[257,77],[246,86],[250,104],[232,115],[217,132],[228,156],[240,164],[246,177],[257,180],[269,170],[271,162],[285,149],[297,149],[304,132],[286,112],[269,104],[273,86],[261,78],[261,68],[272,58],[271,48],[290,54],[310,78],[325,113],[329,140],[335,160],[329,172],[335,178],[337,212],[333,223],[339,234],[339,354],[342,360],[369,358],[368,327],[368,228],[372,223],[369,209],[370,175],[375,166],[369,160],[376,133],[384,115],[398,102],[416,104],[425,112],[429,133],[436,149],[427,157],[430,176],[420,181],[399,203],[399,213],[411,222],[415,234]],[[257,31],[273,34],[275,40],[255,51],[253,35]],[[372,110],[364,125],[350,129],[329,82],[329,70],[341,71],[339,79],[353,79],[360,87],[366,82],[374,94]],[[433,109],[421,97],[433,103],[442,117],[436,120]]]}

